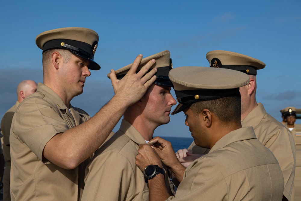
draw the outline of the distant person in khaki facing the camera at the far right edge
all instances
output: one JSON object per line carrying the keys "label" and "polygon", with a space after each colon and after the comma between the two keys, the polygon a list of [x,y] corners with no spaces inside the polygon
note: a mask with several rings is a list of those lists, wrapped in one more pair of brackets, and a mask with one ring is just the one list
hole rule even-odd
{"label": "distant person in khaki facing the camera at the far right edge", "polygon": [[292,133],[296,145],[296,171],[291,200],[297,201],[301,200],[301,124],[295,124],[297,118],[295,107],[287,107],[282,111],[286,120],[285,127]]}

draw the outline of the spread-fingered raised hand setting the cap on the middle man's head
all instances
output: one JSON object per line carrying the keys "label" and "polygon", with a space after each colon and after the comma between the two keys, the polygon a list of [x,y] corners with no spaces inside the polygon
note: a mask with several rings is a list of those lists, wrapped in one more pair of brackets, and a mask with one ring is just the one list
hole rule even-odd
{"label": "spread-fingered raised hand setting the cap on the middle man's head", "polygon": [[113,69],[110,73],[110,79],[114,88],[115,96],[120,97],[120,100],[124,101],[127,106],[130,106],[140,100],[148,87],[156,80],[156,76],[154,75],[157,72],[156,68],[146,74],[146,72],[156,62],[155,59],[147,62],[147,64],[145,64],[145,66],[136,74],[141,60],[142,55],[140,54],[136,57],[132,67],[121,80],[117,79]]}

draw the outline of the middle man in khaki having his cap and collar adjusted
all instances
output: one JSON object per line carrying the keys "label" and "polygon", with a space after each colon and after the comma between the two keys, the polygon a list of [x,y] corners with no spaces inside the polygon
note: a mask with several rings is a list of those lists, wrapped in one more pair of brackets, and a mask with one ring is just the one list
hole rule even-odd
{"label": "middle man in khaki having his cap and collar adjusted", "polygon": [[[148,200],[148,187],[135,164],[135,156],[139,145],[153,139],[154,130],[170,121],[171,107],[176,104],[170,94],[172,83],[168,78],[172,69],[170,52],[166,50],[144,58],[138,68],[151,59],[156,59],[153,67],[158,70],[157,79],[145,95],[126,110],[119,130],[95,153],[85,171],[82,200]],[[117,78],[124,77],[131,66],[116,70]],[[168,172],[165,181],[169,194],[174,195]]]}

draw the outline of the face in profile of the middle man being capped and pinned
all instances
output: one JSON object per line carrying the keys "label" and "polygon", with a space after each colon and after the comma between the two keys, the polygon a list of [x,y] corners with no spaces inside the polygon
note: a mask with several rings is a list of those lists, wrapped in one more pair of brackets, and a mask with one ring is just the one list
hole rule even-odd
{"label": "face in profile of the middle man being capped and pinned", "polygon": [[157,84],[149,87],[147,93],[141,98],[145,123],[157,127],[170,121],[171,107],[176,104],[170,90],[171,87]]}

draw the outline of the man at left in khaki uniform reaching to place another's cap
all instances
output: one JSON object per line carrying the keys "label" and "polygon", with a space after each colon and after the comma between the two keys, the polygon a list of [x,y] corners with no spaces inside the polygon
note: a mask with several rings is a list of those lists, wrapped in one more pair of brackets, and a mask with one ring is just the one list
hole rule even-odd
{"label": "man at left in khaki uniform reaching to place another's cap", "polygon": [[12,200],[80,200],[89,157],[155,80],[155,68],[144,76],[155,60],[136,73],[142,55],[123,80],[112,70],[115,96],[90,118],[70,101],[83,92],[89,70],[100,69],[94,61],[97,43],[95,31],[80,27],[36,37],[43,50],[44,84],[20,103],[12,121]]}

